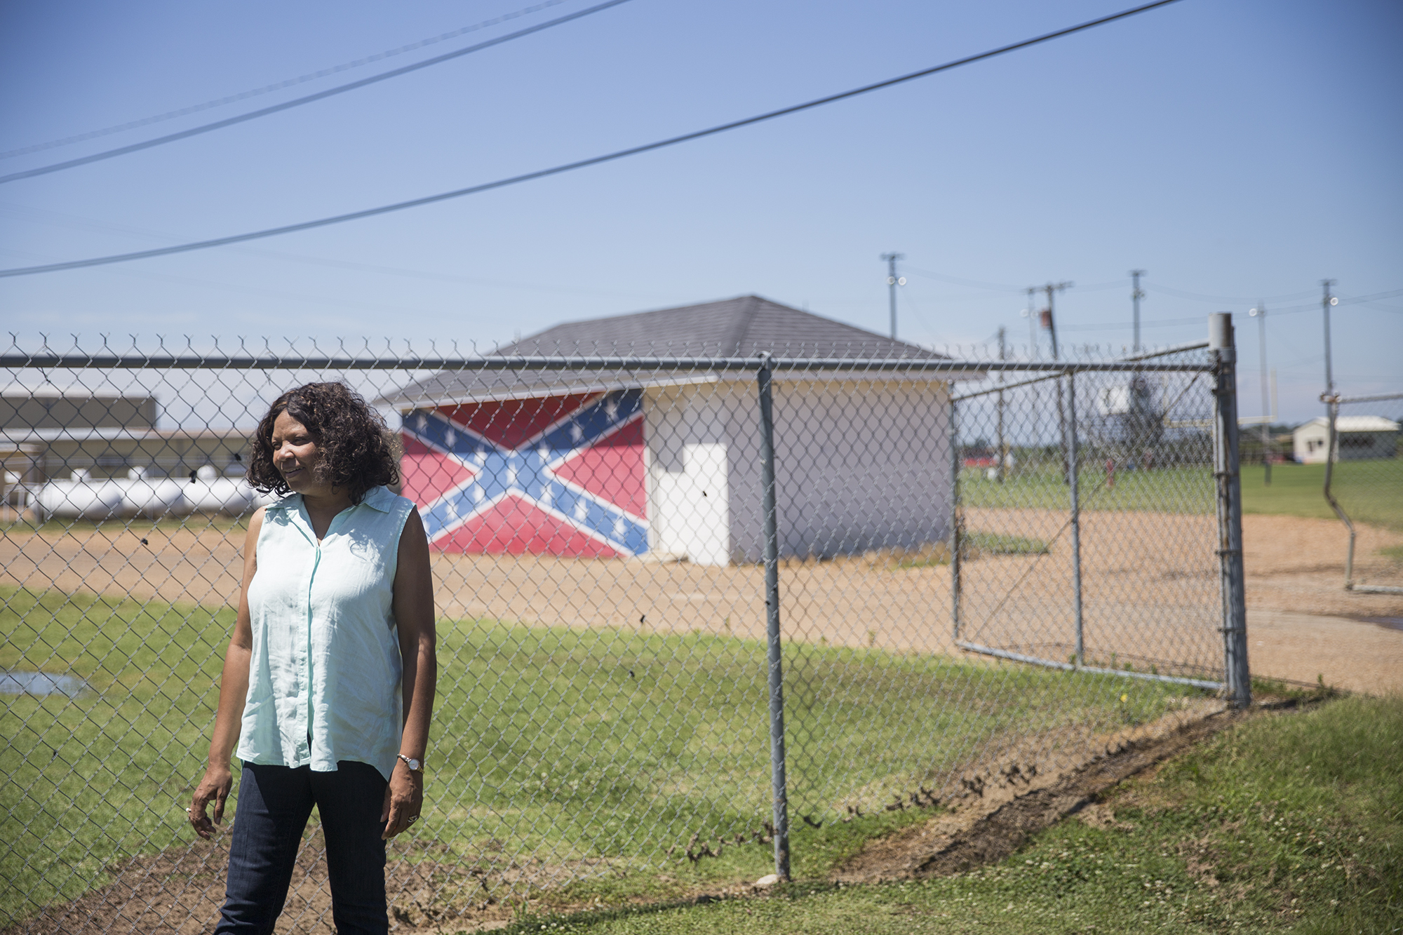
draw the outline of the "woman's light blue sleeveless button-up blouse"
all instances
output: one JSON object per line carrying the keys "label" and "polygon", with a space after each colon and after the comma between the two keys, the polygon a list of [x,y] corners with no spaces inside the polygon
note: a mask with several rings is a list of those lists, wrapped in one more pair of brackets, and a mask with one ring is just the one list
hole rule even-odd
{"label": "woman's light blue sleeveless button-up blouse", "polygon": [[389,781],[403,730],[390,601],[411,510],[411,500],[375,487],[318,543],[302,494],[267,508],[248,584],[254,643],[240,760],[318,772],[355,760]]}

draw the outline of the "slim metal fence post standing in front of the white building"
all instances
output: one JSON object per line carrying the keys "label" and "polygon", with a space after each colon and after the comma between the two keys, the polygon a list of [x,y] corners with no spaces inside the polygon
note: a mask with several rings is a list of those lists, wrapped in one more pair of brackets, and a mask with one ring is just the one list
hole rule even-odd
{"label": "slim metal fence post standing in front of the white building", "polygon": [[765,514],[765,633],[769,643],[770,786],[774,795],[774,873],[787,880],[788,790],[784,782],[784,670],[780,656],[780,533],[774,497],[774,400],[772,361],[760,355],[755,380],[760,396],[760,511]]}

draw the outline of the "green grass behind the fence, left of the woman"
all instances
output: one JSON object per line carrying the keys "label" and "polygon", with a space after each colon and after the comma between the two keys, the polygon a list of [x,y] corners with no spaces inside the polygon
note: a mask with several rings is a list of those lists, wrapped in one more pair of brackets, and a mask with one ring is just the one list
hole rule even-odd
{"label": "green grass behind the fence, left of the woman", "polygon": [[209,750],[233,614],[0,590],[0,668],[74,674],[77,699],[0,696],[0,920],[180,838]]}

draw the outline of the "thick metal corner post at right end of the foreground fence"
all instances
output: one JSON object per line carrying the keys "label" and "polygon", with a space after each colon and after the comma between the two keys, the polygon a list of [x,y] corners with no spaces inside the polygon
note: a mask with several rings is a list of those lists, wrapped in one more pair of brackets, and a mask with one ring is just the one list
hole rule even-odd
{"label": "thick metal corner post at right end of the foreground fence", "polygon": [[1232,314],[1208,316],[1208,348],[1214,357],[1214,479],[1218,482],[1218,567],[1222,580],[1223,670],[1228,703],[1251,703],[1247,668],[1247,597],[1242,564],[1242,477],[1237,460],[1237,348]]}

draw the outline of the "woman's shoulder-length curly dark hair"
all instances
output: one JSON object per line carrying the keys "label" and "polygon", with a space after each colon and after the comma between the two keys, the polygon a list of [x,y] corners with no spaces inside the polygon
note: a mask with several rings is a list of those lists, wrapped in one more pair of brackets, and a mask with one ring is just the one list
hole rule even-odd
{"label": "woman's shoulder-length curly dark hair", "polygon": [[372,487],[400,483],[396,445],[384,418],[345,383],[307,383],[288,390],[258,423],[248,458],[248,483],[264,493],[288,494],[282,472],[272,463],[272,424],[286,411],[317,442],[316,476],[361,503]]}

